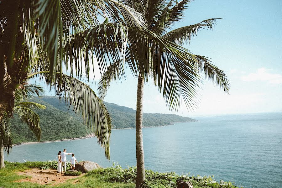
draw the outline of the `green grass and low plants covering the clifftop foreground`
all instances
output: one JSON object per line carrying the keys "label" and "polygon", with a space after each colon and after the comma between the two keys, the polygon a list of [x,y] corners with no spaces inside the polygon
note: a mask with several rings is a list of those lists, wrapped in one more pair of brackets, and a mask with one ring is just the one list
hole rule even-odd
{"label": "green grass and low plants covering the clifftop foreground", "polygon": [[[17,180],[25,179],[28,176],[18,175],[18,172],[28,170],[29,168],[49,168],[53,161],[49,162],[25,162],[25,163],[11,163],[5,161],[6,168],[0,169],[0,187],[3,188],[135,188],[134,180],[136,178],[136,167],[129,167],[123,169],[120,165],[110,168],[100,168],[89,171],[86,175],[67,180],[65,183],[57,185],[39,185],[31,182],[15,182]],[[55,169],[55,166],[52,166]],[[31,178],[31,177],[29,177]],[[141,188],[166,188],[177,187],[174,183],[176,178],[184,178],[193,184],[194,188],[237,188],[234,185],[211,185],[207,186],[208,178],[199,179],[198,177],[184,177],[178,176],[175,173],[159,173],[151,170],[146,170],[146,181]],[[186,179],[185,179],[186,178]],[[74,183],[74,181],[76,181]],[[228,182],[225,182],[228,183]],[[169,185],[168,185],[169,184]]]}

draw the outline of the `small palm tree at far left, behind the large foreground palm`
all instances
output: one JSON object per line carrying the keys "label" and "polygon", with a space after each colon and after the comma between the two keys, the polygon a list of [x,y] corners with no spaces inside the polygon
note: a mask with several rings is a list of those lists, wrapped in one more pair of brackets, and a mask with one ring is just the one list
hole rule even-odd
{"label": "small palm tree at far left, behind the large foreground palm", "polygon": [[[34,109],[45,109],[44,105],[36,102],[29,102],[28,97],[31,95],[41,96],[44,92],[41,86],[35,84],[27,84],[19,86],[15,91],[14,112],[23,123],[29,126],[29,129],[34,133],[38,141],[41,138],[41,128],[39,127],[40,118]],[[0,120],[0,168],[4,168],[4,150],[9,154],[12,149],[12,138],[10,130],[10,119],[7,113],[4,113]]]}

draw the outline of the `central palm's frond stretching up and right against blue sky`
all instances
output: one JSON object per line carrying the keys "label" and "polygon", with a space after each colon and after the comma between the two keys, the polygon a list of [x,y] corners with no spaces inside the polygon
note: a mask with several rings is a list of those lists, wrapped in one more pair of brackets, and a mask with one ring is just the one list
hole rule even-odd
{"label": "central palm's frond stretching up and right against blue sky", "polygon": [[196,36],[201,29],[204,29],[205,27],[207,27],[207,29],[212,29],[219,19],[222,18],[210,18],[203,20],[198,24],[174,29],[163,35],[163,37],[173,43],[182,45],[184,42],[190,42],[191,38]]}

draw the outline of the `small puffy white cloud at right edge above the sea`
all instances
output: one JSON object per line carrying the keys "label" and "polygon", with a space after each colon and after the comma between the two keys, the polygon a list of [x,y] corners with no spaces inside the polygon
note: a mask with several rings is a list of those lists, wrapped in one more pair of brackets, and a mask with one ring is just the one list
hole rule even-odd
{"label": "small puffy white cloud at right edge above the sea", "polygon": [[281,84],[282,75],[271,73],[268,69],[259,68],[256,73],[250,73],[247,76],[242,76],[243,81],[267,81],[271,84]]}

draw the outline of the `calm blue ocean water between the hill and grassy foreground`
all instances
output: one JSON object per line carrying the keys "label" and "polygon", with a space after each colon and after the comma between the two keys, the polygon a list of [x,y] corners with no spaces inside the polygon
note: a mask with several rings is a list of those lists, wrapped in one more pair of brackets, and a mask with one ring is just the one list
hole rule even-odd
{"label": "calm blue ocean water between the hill and grassy foreground", "polygon": [[[196,118],[198,122],[143,128],[145,167],[214,175],[247,188],[282,187],[282,113]],[[108,161],[96,138],[13,147],[6,160],[53,160],[59,150],[103,167],[136,165],[135,129],[113,130]],[[68,156],[70,160],[70,157]]]}

